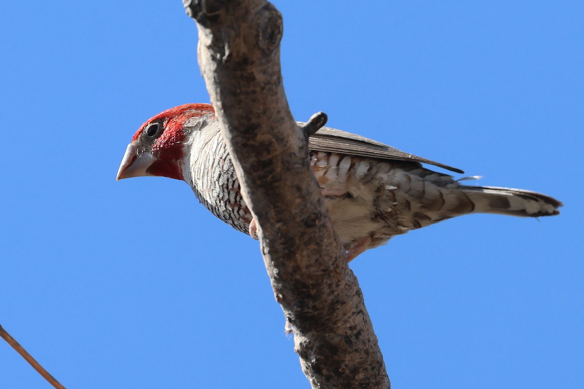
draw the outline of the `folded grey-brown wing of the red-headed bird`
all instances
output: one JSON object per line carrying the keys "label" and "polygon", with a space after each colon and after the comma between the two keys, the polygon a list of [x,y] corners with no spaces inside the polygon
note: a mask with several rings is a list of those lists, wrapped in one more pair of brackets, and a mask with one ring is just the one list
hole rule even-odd
{"label": "folded grey-brown wing of the red-headed bird", "polygon": [[456,167],[434,162],[413,154],[404,153],[401,150],[384,145],[381,142],[373,141],[373,139],[329,127],[322,127],[314,135],[310,136],[308,139],[308,148],[311,150],[359,155],[379,159],[429,163],[434,166],[443,167],[447,170],[456,171],[456,173],[464,173],[464,171],[457,169]]}

